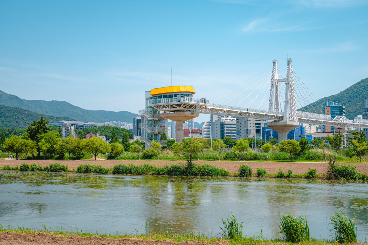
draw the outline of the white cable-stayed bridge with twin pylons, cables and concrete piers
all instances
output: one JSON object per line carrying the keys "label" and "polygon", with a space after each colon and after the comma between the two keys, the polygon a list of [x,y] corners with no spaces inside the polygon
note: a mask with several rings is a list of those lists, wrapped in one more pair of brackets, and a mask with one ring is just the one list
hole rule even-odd
{"label": "white cable-stayed bridge with twin pylons, cables and concrete piers", "polygon": [[[169,90],[161,90],[156,94],[151,92],[151,97],[146,96],[147,106],[162,112],[161,117],[179,123],[176,126],[179,136],[177,141],[179,142],[182,139],[180,137],[182,134],[182,124],[180,126],[180,122],[198,117],[199,113],[268,120],[267,126],[279,133],[280,141],[286,139],[287,132],[296,128],[299,123],[330,125],[336,128],[368,128],[368,122],[352,121],[345,116],[331,118],[329,115],[322,114],[319,110],[322,105],[315,103],[317,99],[293,71],[291,58],[287,58],[287,66],[281,70],[277,69],[277,60],[273,60],[272,70],[265,72],[256,79],[221,96],[217,99],[222,99],[219,103],[215,103],[215,101],[210,103],[209,100],[203,97],[196,99],[192,97],[193,93],[170,97],[168,96],[170,94]],[[242,99],[237,103],[227,104],[240,97]],[[259,109],[266,99],[268,99],[268,108],[266,110]],[[245,107],[239,106],[244,101],[249,102],[248,105]],[[258,101],[258,105],[255,105],[256,108],[250,106],[255,103],[254,101]],[[307,108],[307,111],[298,110],[302,107]]]}

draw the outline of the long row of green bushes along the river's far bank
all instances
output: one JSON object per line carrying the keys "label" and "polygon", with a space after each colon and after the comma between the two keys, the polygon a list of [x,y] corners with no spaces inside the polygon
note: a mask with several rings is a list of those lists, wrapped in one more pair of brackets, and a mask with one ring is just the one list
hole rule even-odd
{"label": "long row of green bushes along the river's far bank", "polygon": [[169,175],[169,176],[238,176],[238,177],[269,177],[269,178],[323,178],[328,180],[363,180],[368,181],[367,173],[360,173],[353,165],[329,164],[327,173],[317,174],[315,168],[309,168],[307,173],[293,174],[293,170],[289,169],[284,172],[279,169],[277,173],[268,174],[266,168],[257,167],[253,172],[252,168],[247,164],[238,167],[237,173],[230,173],[223,167],[217,167],[211,164],[171,164],[165,166],[156,166],[149,163],[142,165],[116,164],[113,167],[106,167],[96,164],[82,164],[77,169],[68,169],[67,166],[60,163],[51,163],[50,166],[41,167],[36,163],[22,163],[19,167],[10,167],[5,165],[3,170],[20,170],[20,171],[47,171],[47,172],[77,172],[85,174],[120,174],[120,175]]}

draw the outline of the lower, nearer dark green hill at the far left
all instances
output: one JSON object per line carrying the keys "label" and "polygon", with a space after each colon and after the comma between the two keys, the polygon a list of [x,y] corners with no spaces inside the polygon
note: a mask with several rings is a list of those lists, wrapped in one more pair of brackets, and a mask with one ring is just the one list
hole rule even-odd
{"label": "lower, nearer dark green hill at the far left", "polygon": [[27,128],[33,120],[39,120],[41,117],[50,121],[76,121],[70,117],[55,117],[36,113],[19,107],[0,105],[0,128]]}

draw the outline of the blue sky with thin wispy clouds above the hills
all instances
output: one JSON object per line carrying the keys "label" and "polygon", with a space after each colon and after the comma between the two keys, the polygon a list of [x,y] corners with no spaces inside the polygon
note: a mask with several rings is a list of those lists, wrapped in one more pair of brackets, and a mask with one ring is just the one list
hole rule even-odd
{"label": "blue sky with thin wispy clouds above the hills", "polygon": [[[2,0],[0,90],[138,113],[146,90],[171,84],[171,69],[173,85],[218,103],[291,57],[320,99],[368,77],[367,11],[366,0]],[[247,106],[248,94],[229,104]],[[250,107],[267,109],[261,102]]]}

